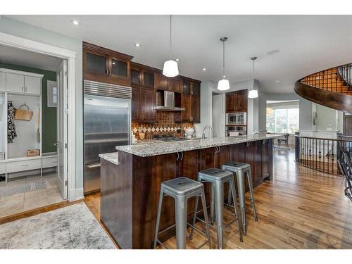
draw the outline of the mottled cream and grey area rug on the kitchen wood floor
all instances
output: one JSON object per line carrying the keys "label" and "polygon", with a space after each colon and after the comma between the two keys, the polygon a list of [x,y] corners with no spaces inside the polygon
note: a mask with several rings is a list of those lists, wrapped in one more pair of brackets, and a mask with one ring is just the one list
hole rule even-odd
{"label": "mottled cream and grey area rug on the kitchen wood floor", "polygon": [[0,249],[115,249],[85,203],[0,225]]}

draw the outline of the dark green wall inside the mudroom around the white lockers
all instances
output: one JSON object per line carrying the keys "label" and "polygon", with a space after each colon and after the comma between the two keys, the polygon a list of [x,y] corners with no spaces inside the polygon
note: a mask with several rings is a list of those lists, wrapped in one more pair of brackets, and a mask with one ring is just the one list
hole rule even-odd
{"label": "dark green wall inside the mudroom around the white lockers", "polygon": [[47,107],[46,103],[46,81],[56,81],[56,72],[8,63],[0,63],[0,68],[44,75],[42,79],[42,151],[43,153],[56,152],[56,146],[54,146],[56,142],[56,107]]}

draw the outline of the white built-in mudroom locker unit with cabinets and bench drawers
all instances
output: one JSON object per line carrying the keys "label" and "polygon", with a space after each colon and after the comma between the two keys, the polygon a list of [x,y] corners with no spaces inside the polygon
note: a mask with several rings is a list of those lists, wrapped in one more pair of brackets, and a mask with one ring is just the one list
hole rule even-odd
{"label": "white built-in mudroom locker unit with cabinets and bench drawers", "polygon": [[[43,77],[44,75],[37,73],[0,68],[0,107],[3,113],[0,118],[0,151],[5,153],[5,159],[0,161],[0,174],[5,174],[6,181],[19,177],[21,174],[18,172],[29,170],[40,170],[42,175],[42,141],[37,142],[36,134],[38,127],[42,134]],[[11,143],[6,139],[6,101],[12,101],[16,109],[25,104],[33,112],[31,120],[14,120],[17,137]],[[39,149],[39,156],[26,157],[26,151],[29,149]],[[53,156],[48,158],[44,165],[46,168],[55,167]]]}

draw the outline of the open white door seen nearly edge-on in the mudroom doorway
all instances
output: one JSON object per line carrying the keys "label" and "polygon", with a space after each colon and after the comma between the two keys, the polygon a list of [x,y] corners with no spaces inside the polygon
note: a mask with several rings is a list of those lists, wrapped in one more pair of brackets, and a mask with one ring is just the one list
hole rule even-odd
{"label": "open white door seen nearly edge-on in the mudroom doorway", "polygon": [[67,61],[63,60],[56,73],[58,104],[56,108],[56,151],[58,153],[58,191],[68,197],[67,179]]}

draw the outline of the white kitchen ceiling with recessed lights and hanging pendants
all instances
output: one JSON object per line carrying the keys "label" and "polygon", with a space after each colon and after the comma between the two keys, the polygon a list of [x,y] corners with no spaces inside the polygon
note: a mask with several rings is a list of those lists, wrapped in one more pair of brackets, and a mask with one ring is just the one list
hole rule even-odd
{"label": "white kitchen ceiling with recessed lights and hanging pendants", "polygon": [[[130,54],[133,61],[156,68],[168,59],[168,15],[10,17]],[[80,25],[73,25],[72,19]],[[351,15],[174,15],[172,28],[172,56],[180,58],[180,74],[199,80],[222,76],[222,36],[229,38],[226,75],[230,82],[251,79],[249,58],[258,56],[256,79],[265,92],[293,92],[299,78],[352,62]],[[136,42],[142,44],[139,49]],[[280,52],[266,55],[274,49]]]}

